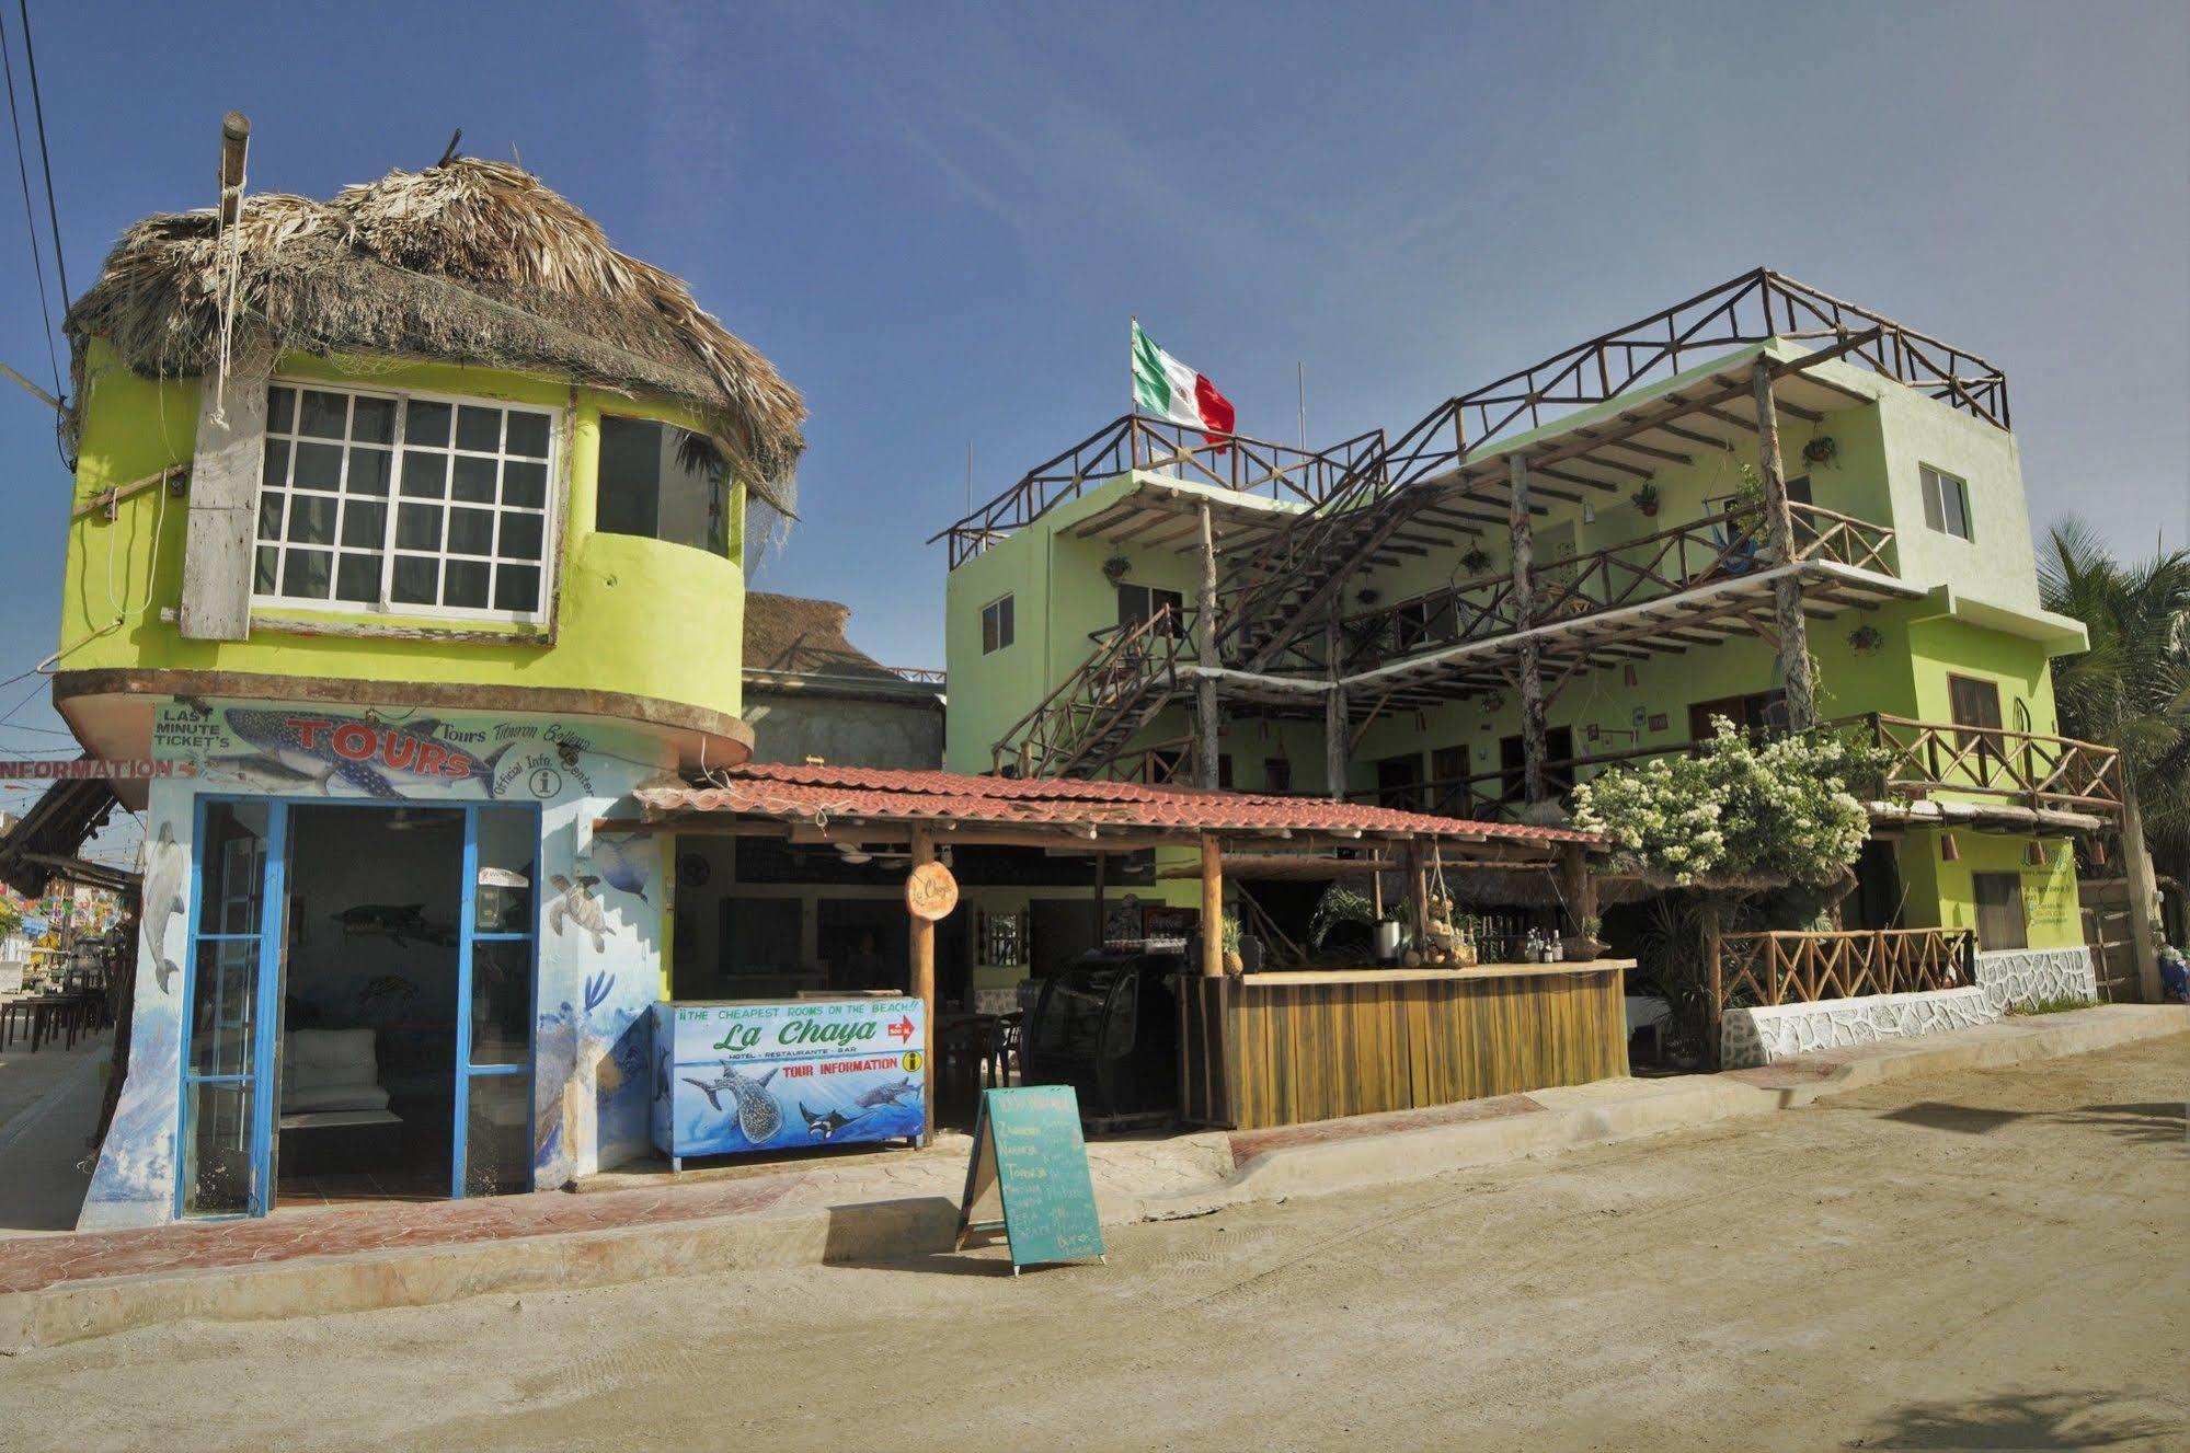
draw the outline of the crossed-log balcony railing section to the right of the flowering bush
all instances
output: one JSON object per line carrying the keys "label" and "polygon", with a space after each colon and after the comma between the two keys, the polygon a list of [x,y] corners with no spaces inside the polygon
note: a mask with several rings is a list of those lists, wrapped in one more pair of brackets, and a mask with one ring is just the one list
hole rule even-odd
{"label": "crossed-log balcony railing section to the right of the flowering bush", "polygon": [[2122,810],[2120,753],[2111,746],[2002,726],[1914,722],[1877,711],[1826,726],[1855,729],[1890,753],[1886,790],[1897,797],[1969,792],[2035,810]]}

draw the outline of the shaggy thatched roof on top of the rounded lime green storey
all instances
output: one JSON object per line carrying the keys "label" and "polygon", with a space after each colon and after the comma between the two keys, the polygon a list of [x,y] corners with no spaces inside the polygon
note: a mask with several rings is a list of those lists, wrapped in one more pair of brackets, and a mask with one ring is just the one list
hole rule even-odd
{"label": "shaggy thatched roof on top of the rounded lime green storey", "polygon": [[806,405],[675,276],[626,256],[585,212],[506,162],[390,171],[333,201],[243,199],[234,239],[210,208],[129,228],[68,313],[145,376],[206,372],[219,354],[230,245],[241,245],[237,337],[572,376],[692,405],[731,473],[791,514]]}

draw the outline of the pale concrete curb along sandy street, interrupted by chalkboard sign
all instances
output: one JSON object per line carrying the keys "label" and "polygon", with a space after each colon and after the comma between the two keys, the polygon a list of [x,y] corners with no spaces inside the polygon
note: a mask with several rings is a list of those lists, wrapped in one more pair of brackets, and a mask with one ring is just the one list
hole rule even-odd
{"label": "pale concrete curb along sandy street, interrupted by chalkboard sign", "polygon": [[[1099,1193],[1099,1206],[1106,1225],[1196,1217],[1226,1206],[1329,1195],[1555,1155],[1583,1144],[1697,1129],[1912,1074],[2004,1068],[2179,1033],[2190,1033],[2190,1007],[2111,1004],[1741,1072],[1765,1079],[1778,1074],[1789,1081],[1778,1085],[1750,1083],[1732,1074],[1686,1074],[1537,1090],[1526,1096],[1537,1109],[1290,1144],[1248,1158],[1231,1177],[1207,1190]],[[0,1352],[13,1355],[186,1317],[247,1322],[425,1306],[491,1293],[609,1287],[705,1271],[913,1260],[948,1252],[955,1223],[955,1201],[929,1195],[57,1282],[0,1295]]]}

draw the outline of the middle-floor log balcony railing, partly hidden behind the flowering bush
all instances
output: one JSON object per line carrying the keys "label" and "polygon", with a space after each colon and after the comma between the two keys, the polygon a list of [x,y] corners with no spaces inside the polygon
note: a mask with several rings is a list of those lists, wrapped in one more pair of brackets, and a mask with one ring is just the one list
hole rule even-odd
{"label": "middle-floor log balcony railing, partly hidden behind the flowering bush", "polygon": [[[1888,753],[1881,781],[1862,783],[1879,799],[1971,794],[2039,812],[2113,816],[2122,810],[2120,755],[2111,746],[2035,731],[1916,722],[1881,711],[1820,722],[1818,731],[1846,733]],[[1553,797],[1564,799],[1575,783],[1629,762],[1688,757],[1699,751],[1702,742],[1680,742],[1561,757],[1544,764],[1544,781]],[[1395,792],[1408,794],[1428,812],[1487,821],[1509,821],[1526,803],[1520,768],[1388,788],[1382,797]],[[1378,801],[1380,794],[1364,790],[1349,797]]]}

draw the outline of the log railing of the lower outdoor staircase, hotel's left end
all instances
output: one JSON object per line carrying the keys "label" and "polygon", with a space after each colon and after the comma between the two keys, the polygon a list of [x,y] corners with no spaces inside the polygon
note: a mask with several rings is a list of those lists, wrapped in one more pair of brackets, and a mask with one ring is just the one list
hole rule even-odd
{"label": "log railing of the lower outdoor staircase, hotel's left end", "polygon": [[1178,685],[1191,650],[1191,611],[1169,606],[1130,626],[1095,630],[1095,650],[990,748],[992,770],[1064,777],[1117,746]]}

